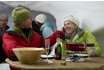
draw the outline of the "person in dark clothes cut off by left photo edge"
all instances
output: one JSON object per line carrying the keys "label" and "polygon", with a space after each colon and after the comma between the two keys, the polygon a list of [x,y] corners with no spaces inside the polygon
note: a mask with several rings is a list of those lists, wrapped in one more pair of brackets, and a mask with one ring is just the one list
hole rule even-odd
{"label": "person in dark clothes cut off by left photo edge", "polygon": [[5,62],[6,54],[2,48],[2,36],[7,29],[9,29],[8,16],[6,14],[0,14],[0,63]]}

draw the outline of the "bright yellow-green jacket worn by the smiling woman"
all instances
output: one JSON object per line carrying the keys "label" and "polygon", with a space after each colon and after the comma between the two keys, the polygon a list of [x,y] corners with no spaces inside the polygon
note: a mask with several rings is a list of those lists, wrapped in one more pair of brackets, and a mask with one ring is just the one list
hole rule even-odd
{"label": "bright yellow-green jacket worn by the smiling woman", "polygon": [[65,44],[66,42],[75,42],[75,43],[94,43],[95,48],[96,48],[96,56],[100,56],[102,53],[101,47],[99,45],[99,43],[97,42],[95,36],[88,32],[88,31],[84,31],[83,29],[79,29],[77,30],[76,34],[74,35],[73,39],[68,40],[68,39],[64,39],[62,40],[63,43],[63,52],[65,51]]}

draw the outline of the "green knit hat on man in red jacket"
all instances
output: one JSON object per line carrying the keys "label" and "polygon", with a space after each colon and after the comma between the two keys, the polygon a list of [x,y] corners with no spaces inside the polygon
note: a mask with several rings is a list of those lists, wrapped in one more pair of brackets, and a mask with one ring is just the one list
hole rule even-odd
{"label": "green knit hat on man in red jacket", "polygon": [[31,13],[28,9],[24,7],[16,7],[12,11],[12,20],[14,22],[14,26],[19,27],[20,24],[28,19],[31,16]]}

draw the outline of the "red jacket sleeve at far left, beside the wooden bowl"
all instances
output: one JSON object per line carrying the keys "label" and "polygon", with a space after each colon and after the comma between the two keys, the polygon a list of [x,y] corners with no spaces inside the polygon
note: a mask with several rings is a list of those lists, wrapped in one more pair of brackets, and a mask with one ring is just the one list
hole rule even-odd
{"label": "red jacket sleeve at far left, beside the wooden bowl", "polygon": [[13,56],[14,53],[13,53],[12,49],[16,48],[16,47],[20,47],[20,45],[17,45],[16,39],[12,35],[5,33],[3,35],[3,49],[6,53],[6,55]]}

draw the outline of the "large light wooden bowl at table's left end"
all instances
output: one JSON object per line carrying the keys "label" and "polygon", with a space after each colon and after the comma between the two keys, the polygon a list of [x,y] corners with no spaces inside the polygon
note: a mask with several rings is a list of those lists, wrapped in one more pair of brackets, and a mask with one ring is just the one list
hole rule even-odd
{"label": "large light wooden bowl at table's left end", "polygon": [[34,64],[40,60],[44,48],[13,48],[18,60],[23,64]]}

